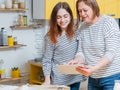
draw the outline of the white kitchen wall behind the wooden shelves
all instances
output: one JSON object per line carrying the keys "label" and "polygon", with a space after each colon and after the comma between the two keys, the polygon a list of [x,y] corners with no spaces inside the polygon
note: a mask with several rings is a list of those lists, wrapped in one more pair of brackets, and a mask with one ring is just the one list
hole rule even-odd
{"label": "white kitchen wall behind the wooden shelves", "polygon": [[[28,21],[31,21],[31,0],[26,0],[26,7],[28,10],[24,14],[28,16]],[[21,74],[28,73],[28,61],[42,57],[43,37],[46,33],[46,27],[42,25],[38,29],[11,30],[9,26],[16,23],[19,14],[23,13],[0,12],[0,28],[5,27],[8,34],[17,37],[18,43],[27,45],[17,49],[0,50],[0,59],[4,60],[3,67],[6,69],[6,77],[11,76],[10,70],[16,66],[20,68]],[[40,23],[44,24],[44,20]]]}

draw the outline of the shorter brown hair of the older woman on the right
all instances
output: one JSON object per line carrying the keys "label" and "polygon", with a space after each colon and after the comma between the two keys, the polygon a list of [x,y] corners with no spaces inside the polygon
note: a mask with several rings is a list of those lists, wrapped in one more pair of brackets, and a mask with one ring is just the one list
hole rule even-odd
{"label": "shorter brown hair of the older woman on the right", "polygon": [[99,16],[100,15],[100,9],[99,9],[99,6],[97,4],[97,1],[96,0],[77,0],[76,2],[76,12],[77,12],[77,23],[76,23],[76,26],[78,27],[79,26],[79,22],[81,21],[80,19],[80,15],[79,15],[79,11],[78,11],[78,3],[79,2],[84,2],[86,5],[90,6],[93,10],[93,13],[94,13],[94,16]]}

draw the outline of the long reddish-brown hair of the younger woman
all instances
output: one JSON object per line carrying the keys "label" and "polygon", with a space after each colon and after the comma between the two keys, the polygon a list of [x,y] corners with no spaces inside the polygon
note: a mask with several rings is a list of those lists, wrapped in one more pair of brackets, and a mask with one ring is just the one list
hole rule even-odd
{"label": "long reddish-brown hair of the younger woman", "polygon": [[55,7],[52,10],[50,22],[49,22],[50,29],[48,31],[48,36],[49,36],[51,42],[54,44],[58,42],[58,40],[57,40],[58,35],[62,34],[61,28],[57,25],[57,12],[60,8],[65,9],[70,14],[71,21],[67,27],[66,34],[70,40],[74,36],[74,30],[73,30],[74,22],[73,22],[72,10],[66,2],[59,2],[55,5]]}

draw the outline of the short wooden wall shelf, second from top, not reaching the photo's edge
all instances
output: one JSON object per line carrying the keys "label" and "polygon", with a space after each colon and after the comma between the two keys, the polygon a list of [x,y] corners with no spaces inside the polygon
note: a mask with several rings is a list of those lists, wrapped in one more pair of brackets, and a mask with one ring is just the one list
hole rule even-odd
{"label": "short wooden wall shelf, second from top, not reaching the photo's edge", "polygon": [[19,26],[19,25],[10,26],[12,30],[23,30],[23,29],[28,30],[28,29],[37,29],[40,27],[41,27],[41,24],[32,24],[28,26]]}

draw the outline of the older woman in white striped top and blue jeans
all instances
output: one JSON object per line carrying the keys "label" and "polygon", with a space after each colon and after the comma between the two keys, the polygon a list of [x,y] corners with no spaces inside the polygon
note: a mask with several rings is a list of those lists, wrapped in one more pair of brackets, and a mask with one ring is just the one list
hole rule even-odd
{"label": "older woman in white striped top and blue jeans", "polygon": [[77,71],[89,76],[88,90],[113,90],[120,80],[120,30],[110,16],[100,15],[96,0],[77,0],[80,46],[74,60],[88,65]]}

